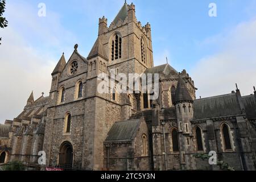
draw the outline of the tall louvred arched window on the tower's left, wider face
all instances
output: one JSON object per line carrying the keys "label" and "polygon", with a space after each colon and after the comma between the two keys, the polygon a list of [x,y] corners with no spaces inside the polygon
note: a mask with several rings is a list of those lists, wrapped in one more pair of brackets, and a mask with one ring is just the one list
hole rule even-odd
{"label": "tall louvred arched window on the tower's left, wider face", "polygon": [[119,34],[116,34],[114,40],[112,40],[111,55],[112,61],[122,58],[122,38]]}

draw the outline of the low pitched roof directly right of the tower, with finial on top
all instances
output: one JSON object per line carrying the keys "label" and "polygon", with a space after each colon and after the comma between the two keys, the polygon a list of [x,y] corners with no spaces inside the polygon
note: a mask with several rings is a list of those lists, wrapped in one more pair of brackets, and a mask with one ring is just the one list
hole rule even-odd
{"label": "low pitched roof directly right of the tower, with finial on top", "polygon": [[160,73],[160,72],[163,72],[164,74],[167,74],[167,75],[178,75],[179,74],[169,64],[163,64],[163,65],[159,65],[157,67],[148,68],[144,71],[145,74],[147,74],[147,73],[155,74],[155,73]]}

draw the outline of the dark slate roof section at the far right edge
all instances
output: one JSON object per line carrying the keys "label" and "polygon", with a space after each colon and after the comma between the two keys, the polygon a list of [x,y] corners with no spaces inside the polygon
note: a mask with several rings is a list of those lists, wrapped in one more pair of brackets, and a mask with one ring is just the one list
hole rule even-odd
{"label": "dark slate roof section at the far right edge", "polygon": [[256,98],[254,95],[242,97],[248,119],[256,118]]}

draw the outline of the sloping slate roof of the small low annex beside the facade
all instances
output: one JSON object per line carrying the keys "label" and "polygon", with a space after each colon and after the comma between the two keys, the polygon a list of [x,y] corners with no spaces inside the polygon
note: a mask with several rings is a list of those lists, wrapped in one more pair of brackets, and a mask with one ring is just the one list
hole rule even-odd
{"label": "sloping slate roof of the small low annex beside the facade", "polygon": [[116,122],[110,129],[106,142],[131,140],[137,134],[141,119]]}

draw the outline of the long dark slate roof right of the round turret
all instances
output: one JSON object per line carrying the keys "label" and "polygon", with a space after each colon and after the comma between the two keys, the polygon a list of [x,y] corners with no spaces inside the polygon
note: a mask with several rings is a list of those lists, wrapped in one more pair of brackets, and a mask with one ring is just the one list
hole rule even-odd
{"label": "long dark slate roof right of the round turret", "polygon": [[193,111],[194,120],[242,114],[236,93],[195,100]]}

